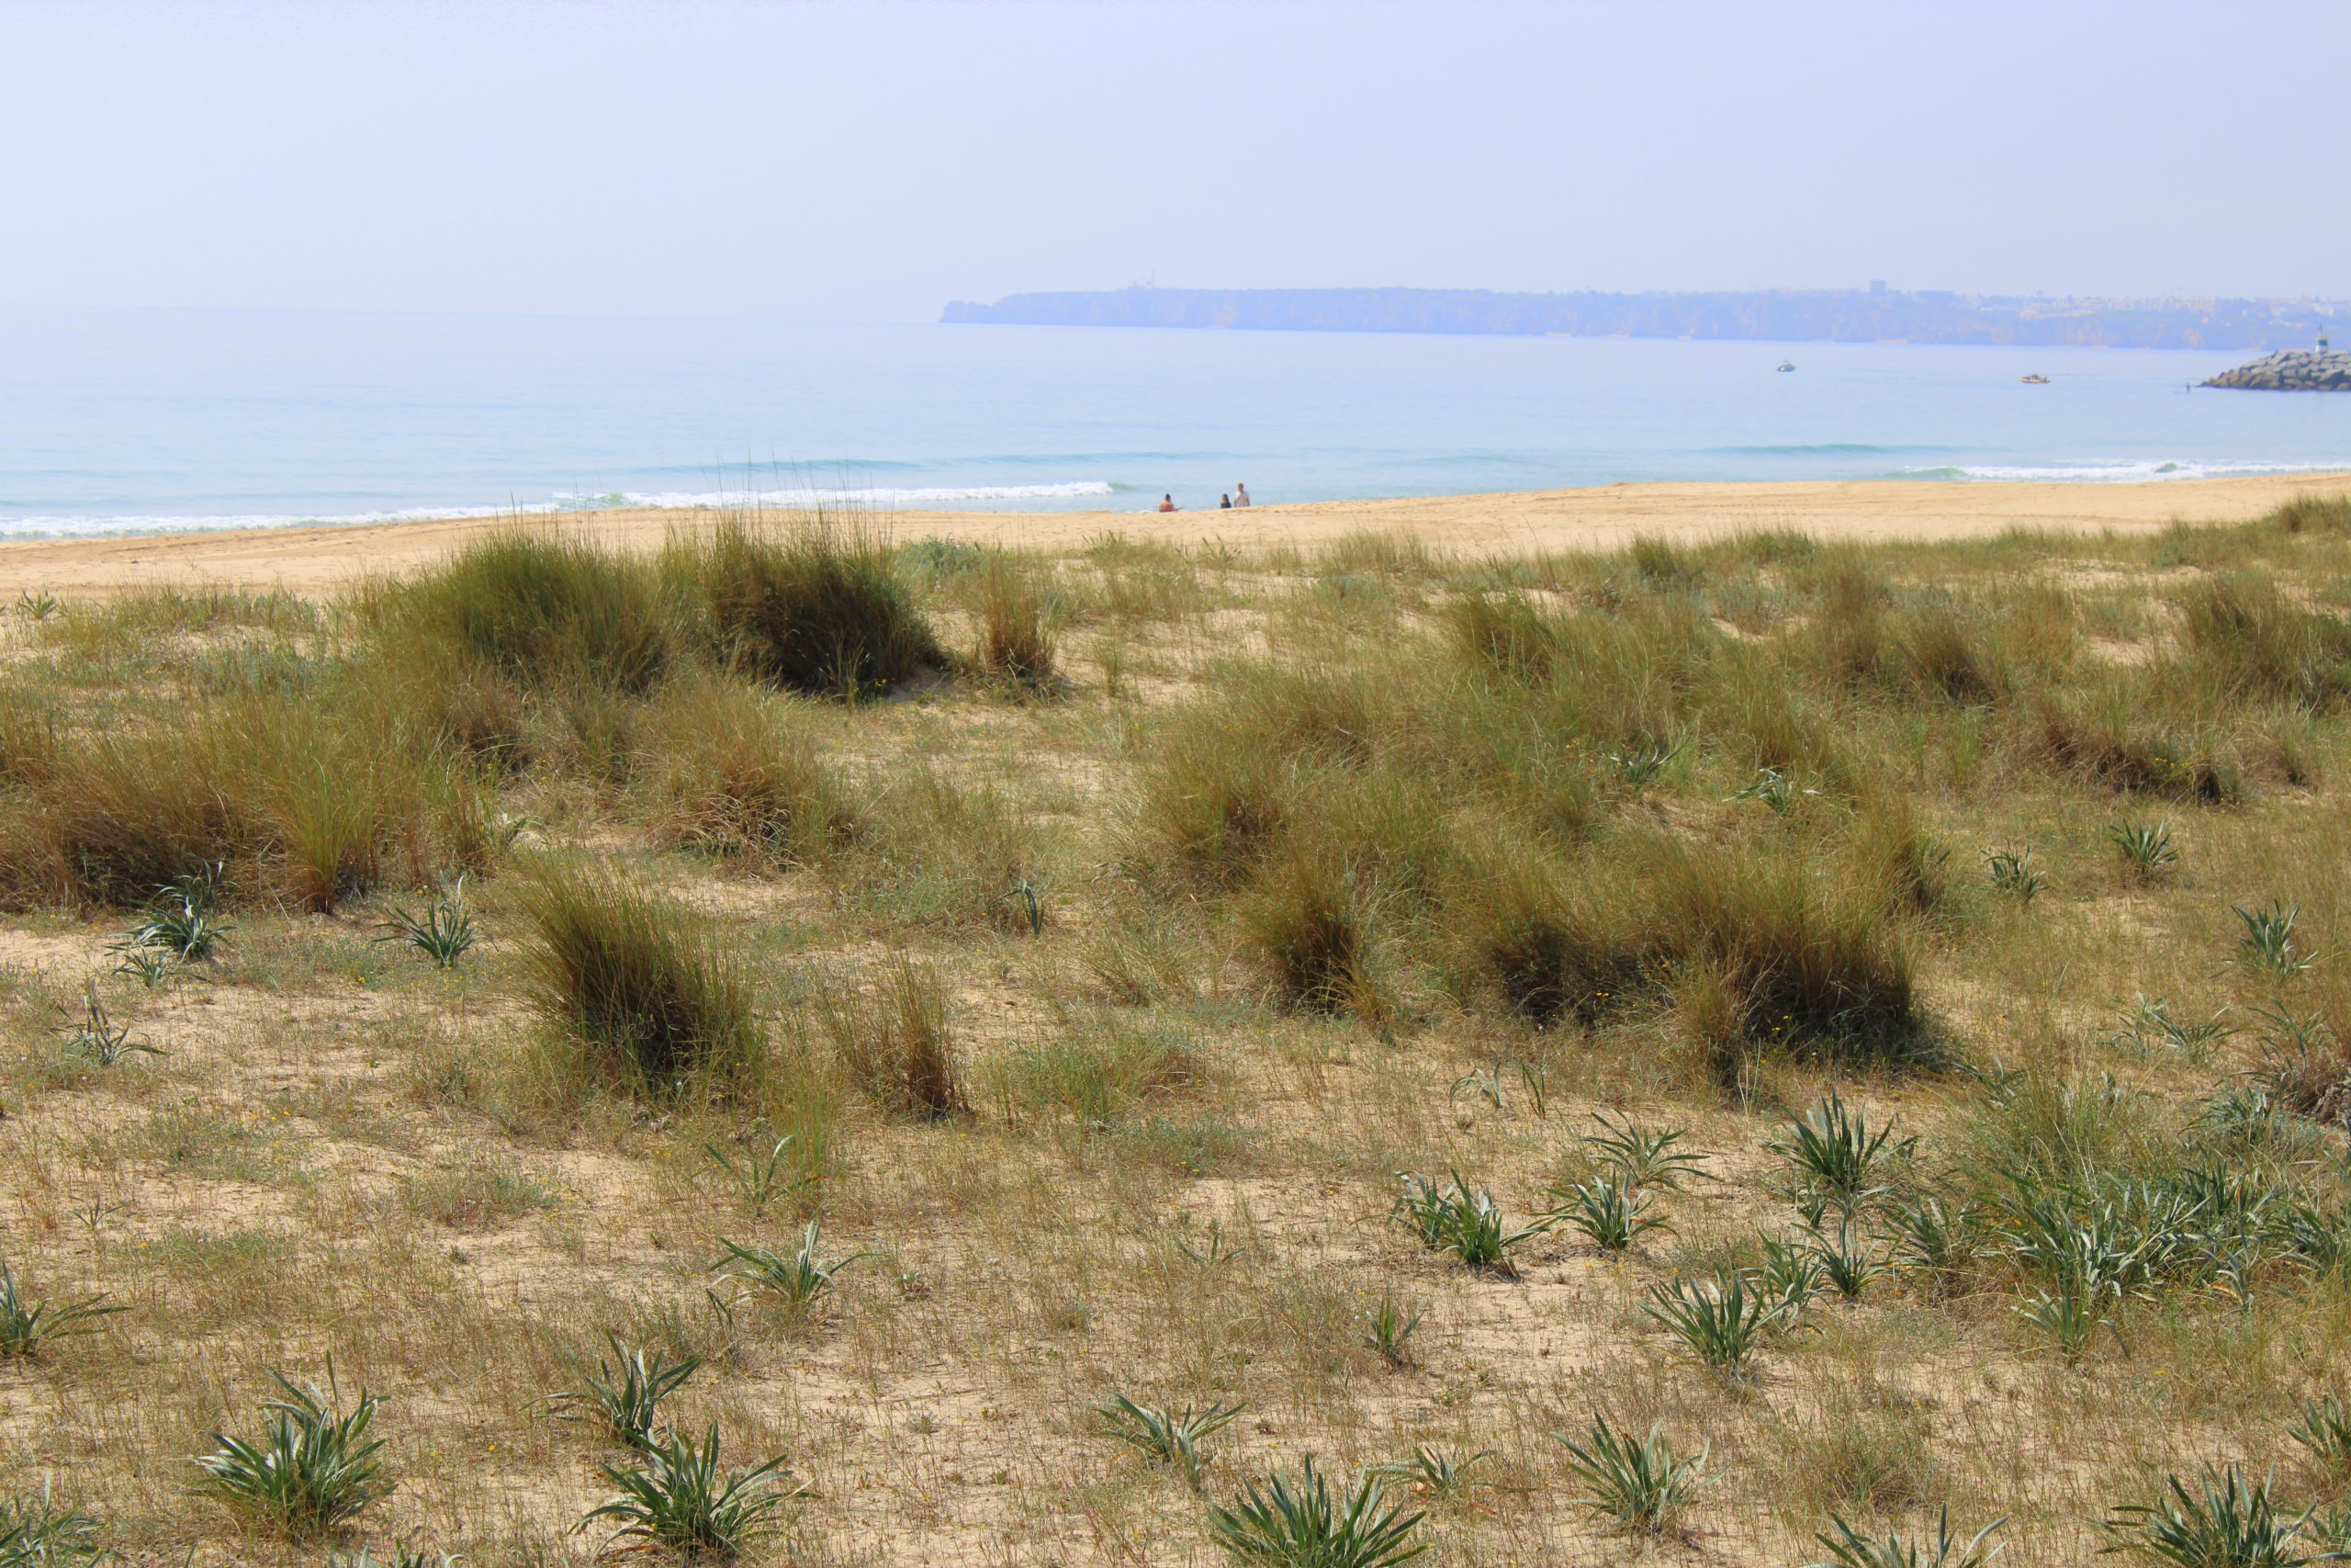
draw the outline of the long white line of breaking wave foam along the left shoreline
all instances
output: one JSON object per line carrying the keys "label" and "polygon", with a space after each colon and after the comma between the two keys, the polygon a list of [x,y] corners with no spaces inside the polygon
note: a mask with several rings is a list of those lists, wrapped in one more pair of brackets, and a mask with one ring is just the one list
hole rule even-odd
{"label": "long white line of breaking wave foam along the left shoreline", "polygon": [[957,501],[1079,501],[1110,496],[1100,480],[1063,484],[924,484],[910,489],[710,489],[710,491],[604,491],[560,494],[538,505],[411,505],[390,512],[207,512],[207,515],[113,515],[0,517],[0,538],[113,538],[125,534],[226,534],[233,529],[320,529],[369,522],[454,522],[458,517],[501,517],[517,512],[609,510],[642,505],[649,510],[691,510],[710,505],[947,505]]}

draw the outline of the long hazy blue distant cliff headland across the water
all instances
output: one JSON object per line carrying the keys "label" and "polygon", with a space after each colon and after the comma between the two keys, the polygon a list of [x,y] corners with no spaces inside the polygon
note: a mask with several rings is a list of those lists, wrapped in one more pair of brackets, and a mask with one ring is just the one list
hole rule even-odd
{"label": "long hazy blue distant cliff headland across the water", "polygon": [[1225,327],[1239,331],[1474,331],[1578,339],[2304,348],[2351,303],[2280,299],[2012,299],[1904,289],[1742,294],[1491,294],[1486,289],[1117,289],[957,301],[943,322]]}

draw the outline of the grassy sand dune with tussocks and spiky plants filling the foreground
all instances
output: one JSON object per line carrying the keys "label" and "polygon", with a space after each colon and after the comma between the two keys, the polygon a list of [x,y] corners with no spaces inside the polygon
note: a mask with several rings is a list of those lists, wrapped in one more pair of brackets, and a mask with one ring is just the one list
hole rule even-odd
{"label": "grassy sand dune with tussocks and spiky plants filling the foreground", "polygon": [[0,661],[0,1568],[2351,1549],[2351,501]]}

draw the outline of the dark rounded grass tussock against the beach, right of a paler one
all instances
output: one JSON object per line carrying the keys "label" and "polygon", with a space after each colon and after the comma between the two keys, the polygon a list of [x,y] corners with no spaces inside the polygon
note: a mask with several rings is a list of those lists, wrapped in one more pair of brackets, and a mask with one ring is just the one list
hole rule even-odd
{"label": "dark rounded grass tussock against the beach, right of a paler one", "polygon": [[851,520],[726,517],[672,541],[663,571],[724,668],[790,691],[868,698],[943,663],[889,541]]}

